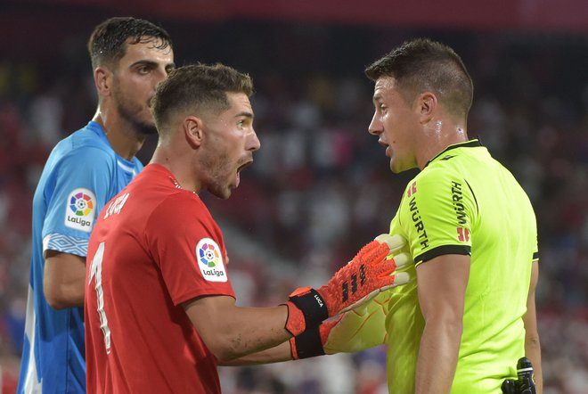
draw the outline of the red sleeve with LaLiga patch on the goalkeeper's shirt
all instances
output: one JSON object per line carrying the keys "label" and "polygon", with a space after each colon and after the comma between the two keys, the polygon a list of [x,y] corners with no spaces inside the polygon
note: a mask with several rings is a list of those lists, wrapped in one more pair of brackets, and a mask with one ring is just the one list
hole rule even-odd
{"label": "red sleeve with LaLiga patch on the goalkeeper's shirt", "polygon": [[145,235],[175,305],[204,295],[234,298],[223,236],[198,197],[168,197],[151,214]]}

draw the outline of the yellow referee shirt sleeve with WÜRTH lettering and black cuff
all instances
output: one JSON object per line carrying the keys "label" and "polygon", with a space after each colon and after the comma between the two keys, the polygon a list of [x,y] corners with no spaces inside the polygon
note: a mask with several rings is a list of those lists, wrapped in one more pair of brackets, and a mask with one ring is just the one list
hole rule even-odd
{"label": "yellow referee shirt sleeve with W\u00dcRTH lettering and black cuff", "polygon": [[404,192],[399,214],[416,265],[445,254],[469,255],[477,212],[462,176],[429,168],[415,177]]}

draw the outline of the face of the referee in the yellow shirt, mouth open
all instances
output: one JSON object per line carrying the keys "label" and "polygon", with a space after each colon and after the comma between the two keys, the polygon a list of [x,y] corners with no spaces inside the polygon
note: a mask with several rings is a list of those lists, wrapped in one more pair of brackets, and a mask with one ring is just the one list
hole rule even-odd
{"label": "face of the referee in the yellow shirt, mouth open", "polygon": [[411,103],[406,103],[392,77],[378,78],[374,86],[370,134],[378,135],[378,142],[386,147],[390,169],[399,173],[417,167],[414,154],[419,117]]}

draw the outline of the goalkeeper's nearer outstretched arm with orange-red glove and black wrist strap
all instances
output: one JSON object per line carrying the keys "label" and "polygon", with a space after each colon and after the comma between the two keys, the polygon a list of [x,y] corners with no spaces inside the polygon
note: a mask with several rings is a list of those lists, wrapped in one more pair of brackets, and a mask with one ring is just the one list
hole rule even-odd
{"label": "goalkeeper's nearer outstretched arm with orange-red glove and black wrist strap", "polygon": [[[307,328],[316,330],[324,319],[355,308],[382,290],[406,283],[408,275],[396,274],[395,260],[387,259],[389,238],[386,234],[383,241],[377,239],[363,247],[320,289],[294,291],[286,305],[240,308],[232,297],[211,295],[185,302],[184,309],[208,349],[222,364],[274,348]],[[290,358],[285,350],[276,351],[240,362]]]}

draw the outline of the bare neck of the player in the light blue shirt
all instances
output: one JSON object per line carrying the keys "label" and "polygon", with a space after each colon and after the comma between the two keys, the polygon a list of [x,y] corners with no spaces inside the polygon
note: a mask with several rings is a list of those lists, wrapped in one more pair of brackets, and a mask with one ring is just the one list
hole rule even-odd
{"label": "bare neck of the player in the light blue shirt", "polygon": [[112,115],[107,116],[100,107],[92,120],[102,127],[112,150],[126,160],[133,160],[136,152],[139,152],[145,142],[145,135],[139,135],[126,120]]}

